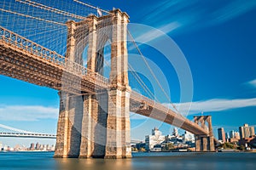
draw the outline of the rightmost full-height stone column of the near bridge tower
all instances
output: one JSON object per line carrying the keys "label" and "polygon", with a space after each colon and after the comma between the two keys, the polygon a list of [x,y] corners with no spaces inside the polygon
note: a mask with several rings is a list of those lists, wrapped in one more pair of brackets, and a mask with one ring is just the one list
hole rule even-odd
{"label": "rightmost full-height stone column of the near bridge tower", "polygon": [[107,145],[105,158],[131,157],[130,92],[126,26],[128,15],[118,10],[113,13],[111,72],[108,91]]}

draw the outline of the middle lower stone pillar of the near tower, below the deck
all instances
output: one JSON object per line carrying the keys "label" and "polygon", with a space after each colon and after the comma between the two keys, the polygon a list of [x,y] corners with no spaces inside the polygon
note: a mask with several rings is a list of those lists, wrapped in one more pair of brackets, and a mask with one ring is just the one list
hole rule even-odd
{"label": "middle lower stone pillar of the near tower, below the deck", "polygon": [[105,156],[107,112],[107,92],[84,95],[80,158]]}

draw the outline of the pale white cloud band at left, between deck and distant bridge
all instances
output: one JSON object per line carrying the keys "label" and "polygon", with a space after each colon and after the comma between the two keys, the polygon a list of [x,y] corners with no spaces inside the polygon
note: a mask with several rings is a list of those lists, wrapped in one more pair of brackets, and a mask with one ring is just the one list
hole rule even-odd
{"label": "pale white cloud band at left, between deck and distant bridge", "polygon": [[0,105],[0,119],[5,121],[57,119],[58,112],[58,108],[41,105]]}

